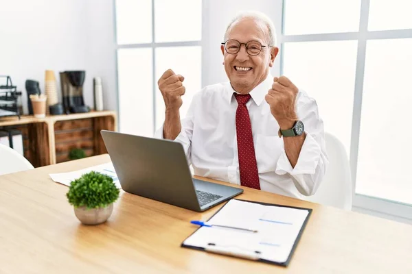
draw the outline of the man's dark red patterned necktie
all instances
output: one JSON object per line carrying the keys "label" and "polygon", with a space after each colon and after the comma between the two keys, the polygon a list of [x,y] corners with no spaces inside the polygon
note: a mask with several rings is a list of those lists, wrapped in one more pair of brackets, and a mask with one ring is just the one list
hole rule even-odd
{"label": "man's dark red patterned necktie", "polygon": [[251,95],[238,95],[236,110],[236,136],[238,138],[238,157],[240,184],[249,188],[260,189],[258,164],[256,163],[255,147],[253,146],[252,126],[246,103]]}

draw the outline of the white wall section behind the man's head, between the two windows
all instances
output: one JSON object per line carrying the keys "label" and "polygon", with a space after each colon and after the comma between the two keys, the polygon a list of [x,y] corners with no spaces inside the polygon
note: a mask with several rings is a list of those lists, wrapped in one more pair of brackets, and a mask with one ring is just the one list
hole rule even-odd
{"label": "white wall section behind the man's head, between the two windows", "polygon": [[[282,0],[203,0],[203,86],[218,82],[227,82],[227,76],[222,65],[223,56],[220,43],[227,24],[239,11],[255,10],[269,16],[280,36],[282,27]],[[278,39],[279,40],[279,39]],[[279,47],[279,42],[277,42]],[[271,73],[279,75],[280,55],[277,55]]]}

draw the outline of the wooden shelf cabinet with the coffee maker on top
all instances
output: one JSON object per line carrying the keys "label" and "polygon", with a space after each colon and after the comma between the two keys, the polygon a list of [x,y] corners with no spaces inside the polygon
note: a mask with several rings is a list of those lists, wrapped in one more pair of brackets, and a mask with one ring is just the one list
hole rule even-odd
{"label": "wooden shelf cabinet with the coffee maker on top", "polygon": [[114,111],[68,115],[8,117],[0,128],[16,128],[23,134],[24,156],[33,166],[47,166],[69,159],[71,149],[83,149],[87,156],[107,153],[100,130],[117,130]]}

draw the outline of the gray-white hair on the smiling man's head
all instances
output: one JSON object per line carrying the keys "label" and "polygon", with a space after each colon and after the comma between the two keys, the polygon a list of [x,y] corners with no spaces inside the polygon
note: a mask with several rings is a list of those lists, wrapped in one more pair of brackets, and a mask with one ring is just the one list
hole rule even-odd
{"label": "gray-white hair on the smiling man's head", "polygon": [[268,46],[269,47],[274,47],[276,45],[276,29],[275,25],[273,25],[273,22],[271,21],[271,18],[266,16],[266,14],[262,12],[239,12],[227,25],[227,29],[225,32],[225,36],[223,36],[224,41],[227,40],[227,36],[229,36],[229,32],[231,31],[231,28],[233,25],[238,23],[240,20],[244,18],[251,18],[257,21],[258,23],[262,23],[263,25],[266,25],[268,27],[269,31],[269,36],[268,36]]}

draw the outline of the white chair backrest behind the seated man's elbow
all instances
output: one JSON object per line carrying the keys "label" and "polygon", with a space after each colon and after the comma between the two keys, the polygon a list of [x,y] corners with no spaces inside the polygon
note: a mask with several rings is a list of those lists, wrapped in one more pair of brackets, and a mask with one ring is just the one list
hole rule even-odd
{"label": "white chair backrest behind the seated man's elbow", "polygon": [[325,176],[317,192],[306,199],[325,206],[351,210],[352,177],[345,147],[328,132],[325,132],[325,143],[329,159]]}

